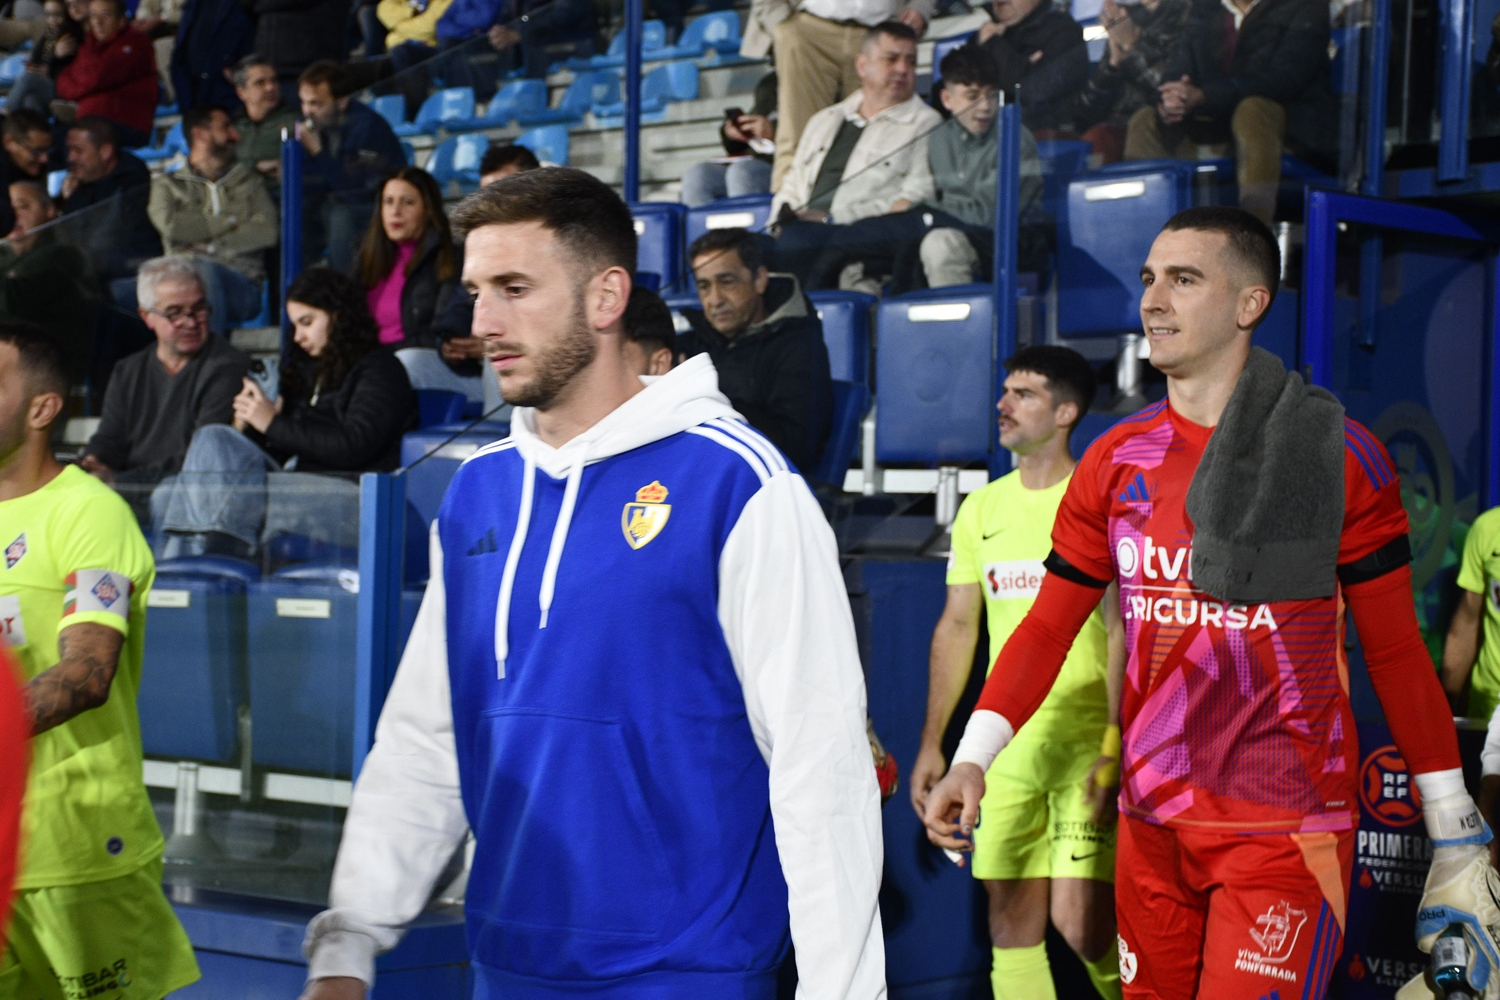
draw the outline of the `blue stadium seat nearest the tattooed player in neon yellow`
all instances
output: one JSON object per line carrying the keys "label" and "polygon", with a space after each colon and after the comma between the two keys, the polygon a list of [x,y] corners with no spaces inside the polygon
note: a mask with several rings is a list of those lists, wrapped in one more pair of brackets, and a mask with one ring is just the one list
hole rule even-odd
{"label": "blue stadium seat nearest the tattooed player in neon yellow", "polygon": [[136,708],[153,757],[232,763],[248,703],[244,588],[260,571],[238,559],[166,559],[147,597]]}

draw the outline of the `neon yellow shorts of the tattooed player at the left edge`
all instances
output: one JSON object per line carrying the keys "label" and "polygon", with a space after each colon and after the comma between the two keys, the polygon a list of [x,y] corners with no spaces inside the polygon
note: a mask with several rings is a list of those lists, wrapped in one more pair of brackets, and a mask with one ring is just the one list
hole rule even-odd
{"label": "neon yellow shorts of the tattooed player at the left edge", "polygon": [[0,1000],[160,1000],[196,981],[160,859],[108,882],[15,894]]}

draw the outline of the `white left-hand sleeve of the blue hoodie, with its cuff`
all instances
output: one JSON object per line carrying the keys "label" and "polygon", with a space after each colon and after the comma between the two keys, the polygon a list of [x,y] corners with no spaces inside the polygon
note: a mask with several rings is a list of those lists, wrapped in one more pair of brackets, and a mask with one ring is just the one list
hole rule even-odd
{"label": "white left-hand sleeve of the blue hoodie, with its cuff", "polygon": [[432,897],[468,822],[459,798],[448,700],[442,547],[432,531],[432,577],[375,727],[333,865],[328,909],[308,925],[308,979],[375,982],[390,951]]}

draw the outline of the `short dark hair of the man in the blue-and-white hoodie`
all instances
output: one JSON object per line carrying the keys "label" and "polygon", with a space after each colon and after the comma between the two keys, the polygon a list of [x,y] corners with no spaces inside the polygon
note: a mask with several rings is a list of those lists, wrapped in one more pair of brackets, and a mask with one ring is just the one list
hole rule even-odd
{"label": "short dark hair of the man in the blue-and-white hoodie", "polygon": [[480,187],[453,210],[459,240],[483,226],[540,222],[594,273],[636,273],[636,220],[620,195],[592,174],[570,166],[530,169]]}

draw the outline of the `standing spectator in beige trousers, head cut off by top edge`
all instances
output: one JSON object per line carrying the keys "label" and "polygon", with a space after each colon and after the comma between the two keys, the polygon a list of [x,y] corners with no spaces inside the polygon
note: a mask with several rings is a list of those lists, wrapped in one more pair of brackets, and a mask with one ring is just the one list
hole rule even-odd
{"label": "standing spectator in beige trousers, head cut off by top edge", "polygon": [[[933,16],[933,0],[806,0],[776,25],[776,168],[771,190],[792,171],[802,129],[830,105],[864,87],[855,63],[866,52],[870,28],[896,19],[921,37]],[[762,52],[764,54],[764,52]],[[915,69],[912,70],[915,76]]]}

